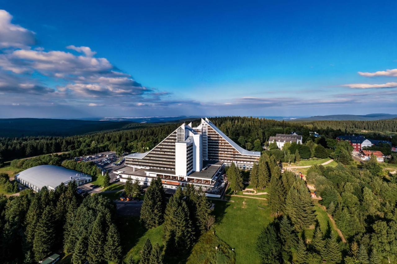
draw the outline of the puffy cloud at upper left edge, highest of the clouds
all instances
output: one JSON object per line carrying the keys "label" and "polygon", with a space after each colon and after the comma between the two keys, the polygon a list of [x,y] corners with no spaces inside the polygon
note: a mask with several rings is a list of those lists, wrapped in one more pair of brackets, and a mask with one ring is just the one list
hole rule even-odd
{"label": "puffy cloud at upper left edge, highest of the clouds", "polygon": [[12,15],[0,10],[0,48],[29,48],[35,44],[35,33],[11,23]]}

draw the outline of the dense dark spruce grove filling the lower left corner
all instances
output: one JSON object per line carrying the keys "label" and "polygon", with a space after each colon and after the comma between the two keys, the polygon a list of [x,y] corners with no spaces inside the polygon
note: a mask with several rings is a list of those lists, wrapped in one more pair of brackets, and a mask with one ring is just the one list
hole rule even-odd
{"label": "dense dark spruce grove filling the lower left corner", "polygon": [[55,191],[22,191],[0,196],[0,259],[37,263],[56,251],[72,253],[72,263],[119,262],[121,245],[115,206],[101,195],[77,194],[73,181]]}

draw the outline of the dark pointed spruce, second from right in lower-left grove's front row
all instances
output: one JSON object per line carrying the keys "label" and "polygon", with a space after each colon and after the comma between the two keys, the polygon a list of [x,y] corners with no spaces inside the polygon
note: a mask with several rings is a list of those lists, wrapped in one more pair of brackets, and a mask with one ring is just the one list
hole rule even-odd
{"label": "dark pointed spruce, second from right in lower-left grove's front row", "polygon": [[105,242],[103,216],[98,214],[93,224],[93,229],[88,240],[87,260],[91,264],[100,263],[103,260],[103,245]]}

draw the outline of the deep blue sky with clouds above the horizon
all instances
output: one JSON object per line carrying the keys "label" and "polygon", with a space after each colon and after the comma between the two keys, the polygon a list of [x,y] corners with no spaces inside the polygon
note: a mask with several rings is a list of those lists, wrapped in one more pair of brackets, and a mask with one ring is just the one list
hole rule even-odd
{"label": "deep blue sky with clouds above the horizon", "polygon": [[396,113],[396,2],[214,2],[0,0],[0,117]]}

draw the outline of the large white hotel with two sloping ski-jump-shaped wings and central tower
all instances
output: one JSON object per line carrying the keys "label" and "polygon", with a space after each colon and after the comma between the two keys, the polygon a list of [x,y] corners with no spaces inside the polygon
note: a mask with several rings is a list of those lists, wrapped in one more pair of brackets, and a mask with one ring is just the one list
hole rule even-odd
{"label": "large white hotel with two sloping ski-jump-shaped wings and central tower", "polygon": [[160,176],[168,188],[193,184],[212,189],[224,165],[251,170],[259,157],[260,152],[243,149],[206,118],[197,127],[182,124],[150,151],[126,156],[126,166],[116,174],[122,182],[131,177],[148,185]]}

